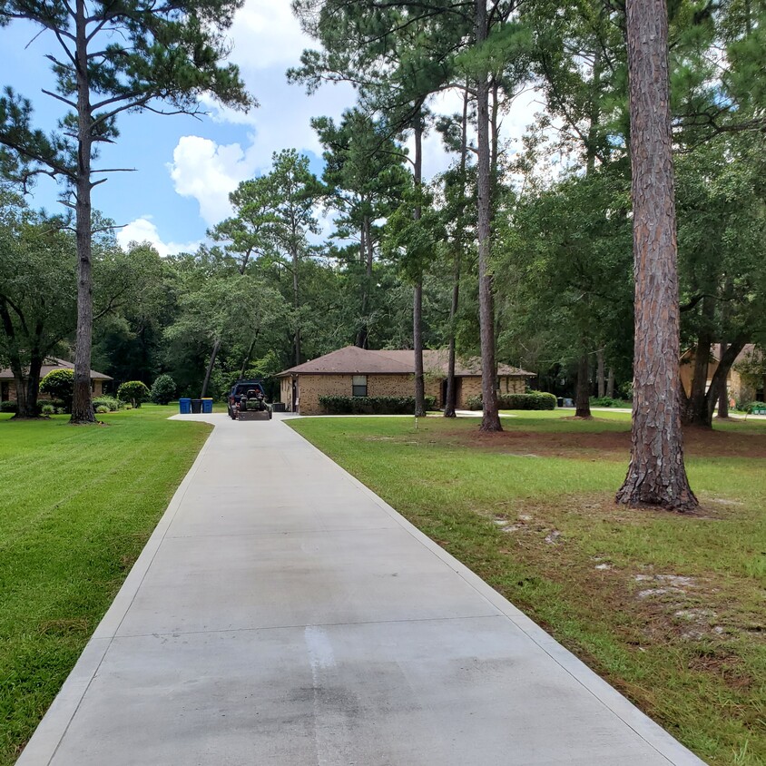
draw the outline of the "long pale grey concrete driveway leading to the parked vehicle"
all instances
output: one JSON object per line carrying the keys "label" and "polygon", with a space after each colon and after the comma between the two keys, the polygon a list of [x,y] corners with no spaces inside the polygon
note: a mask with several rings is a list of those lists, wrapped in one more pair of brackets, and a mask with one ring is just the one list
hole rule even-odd
{"label": "long pale grey concrete driveway leading to the parked vehicle", "polygon": [[206,418],[19,766],[702,763],[279,419]]}

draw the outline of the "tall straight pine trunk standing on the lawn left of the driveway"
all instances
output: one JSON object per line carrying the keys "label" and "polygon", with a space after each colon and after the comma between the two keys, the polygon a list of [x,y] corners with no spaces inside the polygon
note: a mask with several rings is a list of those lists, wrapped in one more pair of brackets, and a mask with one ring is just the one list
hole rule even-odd
{"label": "tall straight pine trunk standing on the lawn left of the driveway", "polygon": [[74,398],[70,423],[95,423],[91,397],[93,347],[93,279],[91,249],[91,116],[84,0],[75,5],[75,71],[77,76],[77,182],[75,231],[77,241],[77,339],[74,349]]}

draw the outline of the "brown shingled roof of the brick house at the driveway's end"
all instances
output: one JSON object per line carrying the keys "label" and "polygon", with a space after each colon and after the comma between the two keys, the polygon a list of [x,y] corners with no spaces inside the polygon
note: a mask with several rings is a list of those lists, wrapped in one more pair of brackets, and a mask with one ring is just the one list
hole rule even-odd
{"label": "brown shingled roof of the brick house at the driveway's end", "polygon": [[[423,351],[423,367],[427,373],[447,376],[447,349]],[[277,378],[286,375],[413,375],[415,351],[370,351],[358,346],[346,346],[323,357],[312,359],[296,367],[286,369]],[[481,376],[481,361],[477,358],[460,359],[455,364],[458,377]],[[534,378],[534,372],[498,365],[497,374],[512,378]]]}

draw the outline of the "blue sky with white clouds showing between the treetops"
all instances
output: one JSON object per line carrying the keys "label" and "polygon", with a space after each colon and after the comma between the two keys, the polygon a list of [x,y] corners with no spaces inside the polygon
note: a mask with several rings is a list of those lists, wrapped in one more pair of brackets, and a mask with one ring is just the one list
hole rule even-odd
{"label": "blue sky with white clouds showing between the treetops", "polygon": [[[25,23],[0,29],[0,85],[11,85],[29,98],[35,126],[47,131],[54,128],[63,114],[59,106],[64,105],[41,93],[41,88],[53,90],[44,54],[55,41],[46,34],[33,39],[37,31]],[[121,135],[103,150],[99,162],[102,167],[130,167],[136,172],[112,174],[94,190],[93,205],[124,225],[118,234],[123,244],[150,241],[162,255],[194,250],[205,239],[205,231],[229,214],[228,194],[237,184],[268,171],[272,152],[298,149],[309,155],[315,172],[321,171],[321,147],[309,119],[339,118],[354,103],[350,87],[326,86],[308,96],[287,83],[286,70],[299,63],[305,47],[314,45],[301,33],[289,0],[246,0],[230,37],[231,61],[239,64],[260,108],[242,114],[205,103],[210,116],[201,120],[152,113],[119,119]],[[446,94],[437,103],[439,111],[453,113],[459,108],[455,94]],[[511,120],[514,132],[520,133],[531,112],[525,105]],[[430,136],[426,175],[447,163],[437,136]],[[53,182],[41,181],[31,203],[54,211],[56,191]]]}

